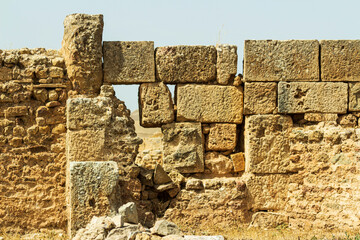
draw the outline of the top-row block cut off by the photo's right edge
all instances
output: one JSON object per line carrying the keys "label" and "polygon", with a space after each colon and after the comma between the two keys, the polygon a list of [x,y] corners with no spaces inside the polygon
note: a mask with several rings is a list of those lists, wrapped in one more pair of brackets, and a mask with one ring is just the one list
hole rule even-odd
{"label": "top-row block cut off by the photo's right edge", "polygon": [[360,40],[322,40],[321,80],[360,81]]}

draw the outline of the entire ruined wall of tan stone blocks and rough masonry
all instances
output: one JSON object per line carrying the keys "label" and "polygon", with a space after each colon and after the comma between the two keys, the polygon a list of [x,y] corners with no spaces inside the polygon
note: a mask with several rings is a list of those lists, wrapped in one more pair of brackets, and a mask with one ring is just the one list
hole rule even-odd
{"label": "entire ruined wall of tan stone blocks and rough masonry", "polygon": [[[2,228],[74,236],[135,202],[146,227],[359,229],[359,40],[248,40],[237,75],[236,46],[102,32],[73,14],[60,51],[0,50]],[[122,84],[156,151],[138,151]]]}

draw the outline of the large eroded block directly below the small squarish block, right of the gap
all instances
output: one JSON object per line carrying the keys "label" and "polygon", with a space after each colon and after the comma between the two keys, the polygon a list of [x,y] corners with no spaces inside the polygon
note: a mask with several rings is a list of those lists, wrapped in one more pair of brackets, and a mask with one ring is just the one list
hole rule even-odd
{"label": "large eroded block directly below the small squarish block, right of the gap", "polygon": [[251,115],[245,119],[246,171],[287,173],[297,170],[290,159],[292,119],[285,115]]}

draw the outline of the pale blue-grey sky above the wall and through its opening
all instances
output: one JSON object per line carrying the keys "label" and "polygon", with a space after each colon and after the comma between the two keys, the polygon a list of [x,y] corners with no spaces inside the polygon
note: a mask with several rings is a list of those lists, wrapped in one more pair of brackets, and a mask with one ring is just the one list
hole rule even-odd
{"label": "pale blue-grey sky above the wall and through its opening", "polygon": [[[104,41],[238,46],[246,39],[359,39],[358,0],[0,0],[0,49],[60,49],[71,13],[104,15]],[[116,86],[137,109],[137,86]]]}

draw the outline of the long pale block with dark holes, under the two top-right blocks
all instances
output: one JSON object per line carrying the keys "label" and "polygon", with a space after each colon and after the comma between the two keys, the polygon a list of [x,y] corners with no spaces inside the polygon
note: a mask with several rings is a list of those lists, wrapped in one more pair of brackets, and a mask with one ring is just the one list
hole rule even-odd
{"label": "long pale block with dark holes, under the two top-right blocks", "polygon": [[346,113],[348,84],[340,82],[279,82],[280,113]]}

